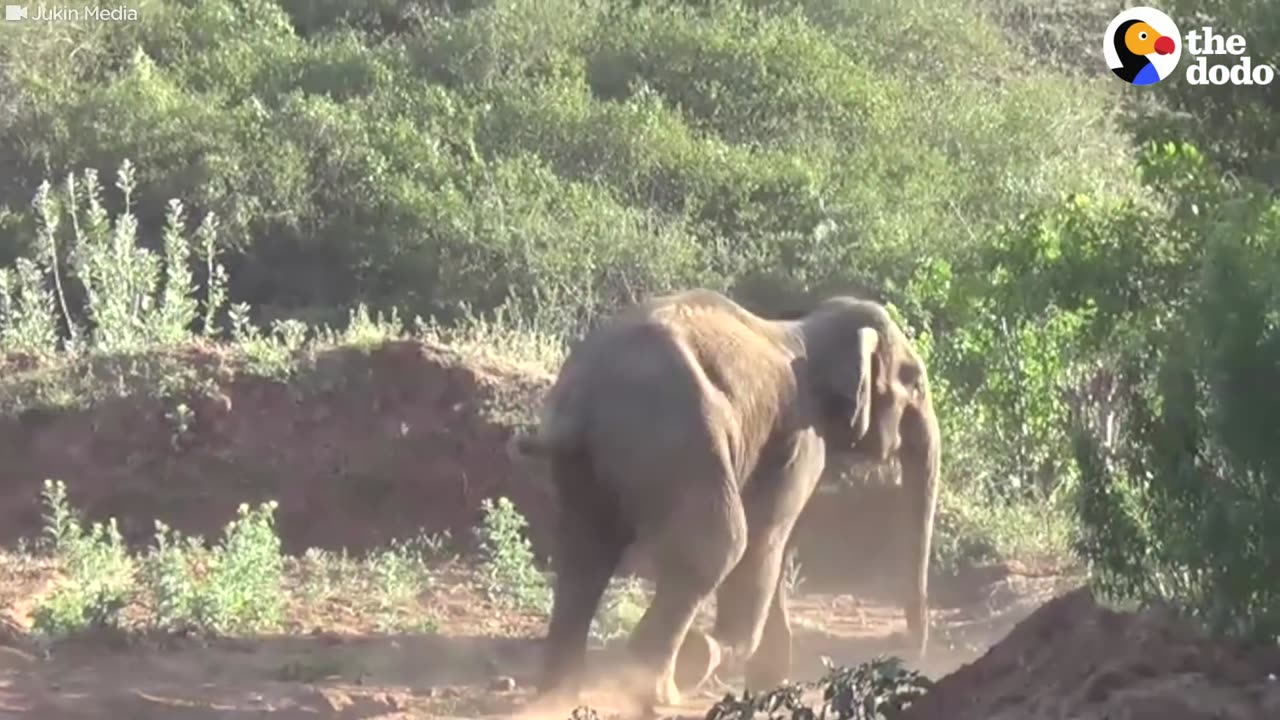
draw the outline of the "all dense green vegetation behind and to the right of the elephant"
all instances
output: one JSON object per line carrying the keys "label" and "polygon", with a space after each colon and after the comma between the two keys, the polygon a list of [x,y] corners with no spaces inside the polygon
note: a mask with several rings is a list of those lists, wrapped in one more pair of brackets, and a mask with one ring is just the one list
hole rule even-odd
{"label": "all dense green vegetation behind and to the right of the elephant", "polygon": [[[1266,3],[1165,9],[1280,64]],[[563,340],[694,284],[764,313],[867,293],[936,378],[943,566],[1071,547],[1117,596],[1275,633],[1280,95],[1125,86],[1097,60],[1111,12],[156,0],[6,26],[3,342],[234,328],[262,356],[357,302]],[[136,233],[104,224],[115,190],[78,228],[32,208],[125,160]],[[173,197],[216,219],[197,242],[165,232]],[[156,254],[119,275],[134,234]]]}

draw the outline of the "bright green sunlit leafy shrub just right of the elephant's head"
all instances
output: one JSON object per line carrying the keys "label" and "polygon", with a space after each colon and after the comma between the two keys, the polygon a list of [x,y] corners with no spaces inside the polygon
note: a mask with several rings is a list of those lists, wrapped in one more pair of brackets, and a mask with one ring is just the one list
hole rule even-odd
{"label": "bright green sunlit leafy shrub just right of the elephant's head", "polygon": [[904,311],[938,328],[923,340],[947,447],[942,568],[1071,553],[1071,418],[1106,400],[1119,348],[1167,322],[1217,222],[1206,209],[1228,201],[1193,147],[1148,147],[1135,170],[1147,197],[1064,197],[902,291]]}

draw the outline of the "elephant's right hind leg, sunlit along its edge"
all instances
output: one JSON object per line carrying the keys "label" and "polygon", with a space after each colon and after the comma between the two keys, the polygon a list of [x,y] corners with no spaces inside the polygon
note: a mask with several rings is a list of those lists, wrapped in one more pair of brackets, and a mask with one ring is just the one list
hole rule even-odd
{"label": "elephant's right hind leg, sunlit along its edge", "polygon": [[[662,525],[654,555],[653,602],[631,635],[645,683],[643,702],[677,705],[677,652],[698,607],[716,591],[746,548],[746,516],[727,466],[691,477]],[[710,669],[708,669],[709,673]]]}

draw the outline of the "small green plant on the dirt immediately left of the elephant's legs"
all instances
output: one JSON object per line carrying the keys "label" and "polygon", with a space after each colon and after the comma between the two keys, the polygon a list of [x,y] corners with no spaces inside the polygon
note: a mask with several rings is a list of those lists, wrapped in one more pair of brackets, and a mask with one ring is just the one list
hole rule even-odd
{"label": "small green plant on the dirt immediately left of the elephant's legs", "polygon": [[481,511],[484,519],[477,534],[489,596],[521,609],[547,612],[550,609],[550,588],[547,577],[535,565],[532,547],[524,534],[527,520],[506,497],[499,497],[497,502],[485,498]]}

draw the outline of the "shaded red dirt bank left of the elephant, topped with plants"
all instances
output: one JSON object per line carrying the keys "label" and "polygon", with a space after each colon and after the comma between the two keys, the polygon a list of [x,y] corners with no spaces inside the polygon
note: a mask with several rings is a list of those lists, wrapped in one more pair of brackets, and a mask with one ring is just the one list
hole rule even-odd
{"label": "shaded red dirt bank left of the elephant, topped with plants", "polygon": [[0,543],[40,530],[41,482],[56,478],[132,541],[155,519],[216,536],[241,502],[271,498],[289,551],[362,550],[420,528],[466,539],[481,501],[506,495],[544,544],[552,498],[512,471],[511,429],[494,418],[550,378],[416,341],[328,351],[288,382],[238,372],[215,348],[175,366],[211,382],[0,419]]}

